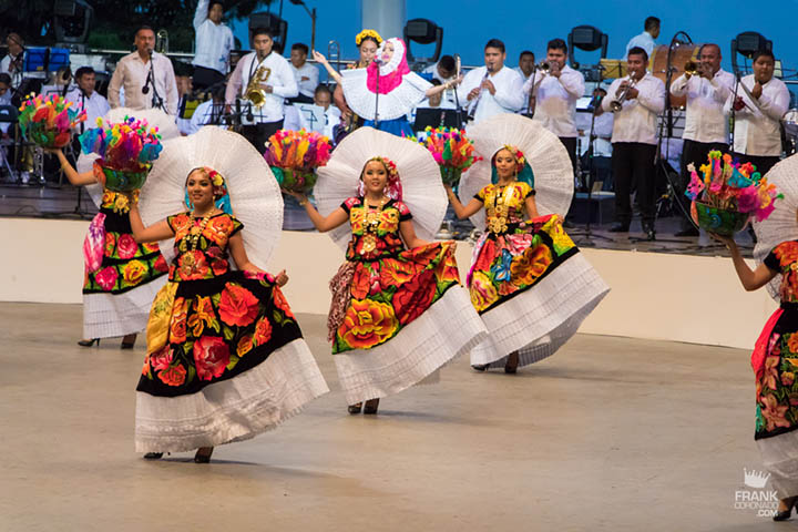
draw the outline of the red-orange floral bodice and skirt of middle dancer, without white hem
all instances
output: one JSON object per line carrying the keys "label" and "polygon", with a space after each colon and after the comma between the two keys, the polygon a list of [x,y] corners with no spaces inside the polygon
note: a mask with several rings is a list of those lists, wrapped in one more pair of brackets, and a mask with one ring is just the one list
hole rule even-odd
{"label": "red-orange floral bodice and skirt of middle dancer, without white hem", "polygon": [[351,197],[341,206],[349,213],[347,259],[355,272],[334,354],[388,341],[460,283],[450,244],[405,249],[399,224],[411,215],[403,203],[390,201],[381,209],[369,209],[362,198]]}

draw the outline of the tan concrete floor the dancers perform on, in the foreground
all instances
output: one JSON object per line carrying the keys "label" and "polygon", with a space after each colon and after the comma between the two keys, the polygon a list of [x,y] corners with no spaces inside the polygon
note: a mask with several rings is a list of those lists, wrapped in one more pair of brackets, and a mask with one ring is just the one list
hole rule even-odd
{"label": "tan concrete floor the dancers perform on, in the foreground", "polygon": [[0,304],[2,531],[764,531],[745,350],[579,335],[521,370],[461,358],[349,416],[332,391],[211,464],[133,451],[143,341],[80,348],[81,307]]}

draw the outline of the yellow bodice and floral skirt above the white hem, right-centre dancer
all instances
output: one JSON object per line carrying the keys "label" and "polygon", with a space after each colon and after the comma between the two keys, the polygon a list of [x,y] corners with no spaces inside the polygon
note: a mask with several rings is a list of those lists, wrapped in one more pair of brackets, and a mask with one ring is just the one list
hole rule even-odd
{"label": "yellow bodice and floral skirt above the white hem, right-centre dancer", "polygon": [[474,196],[484,202],[488,224],[469,277],[471,304],[480,314],[533,287],[579,252],[557,215],[524,222],[531,194],[529,184],[513,183],[488,185]]}

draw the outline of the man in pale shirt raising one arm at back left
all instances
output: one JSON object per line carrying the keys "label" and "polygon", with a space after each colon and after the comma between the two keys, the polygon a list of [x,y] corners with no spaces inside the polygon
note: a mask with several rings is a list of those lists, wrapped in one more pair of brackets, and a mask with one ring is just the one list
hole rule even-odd
{"label": "man in pale shirt raising one arm at back left", "polygon": [[196,53],[194,89],[206,89],[223,82],[229,68],[229,53],[235,48],[233,31],[222,23],[224,7],[219,0],[200,0],[194,11]]}

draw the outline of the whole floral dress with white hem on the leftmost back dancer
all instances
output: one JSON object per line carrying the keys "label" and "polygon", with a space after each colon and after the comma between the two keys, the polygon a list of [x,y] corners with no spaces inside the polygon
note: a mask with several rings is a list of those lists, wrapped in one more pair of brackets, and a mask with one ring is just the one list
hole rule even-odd
{"label": "whole floral dress with white hem on the leftmost back dancer", "polygon": [[[133,238],[127,196],[105,190],[90,231],[104,233],[102,264],[83,282],[83,336],[106,338],[144,329],[168,265],[157,244]],[[98,227],[94,227],[94,226]]]}

